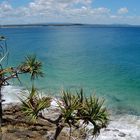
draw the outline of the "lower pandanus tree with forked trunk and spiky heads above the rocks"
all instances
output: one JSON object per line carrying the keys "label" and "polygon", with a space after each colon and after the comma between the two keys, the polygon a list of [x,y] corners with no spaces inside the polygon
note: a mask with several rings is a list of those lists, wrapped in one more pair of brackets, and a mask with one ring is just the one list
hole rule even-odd
{"label": "lower pandanus tree with forked trunk and spiky heads above the rocks", "polygon": [[56,131],[53,140],[56,140],[65,126],[70,127],[70,135],[72,126],[77,128],[91,123],[93,125],[93,136],[97,136],[100,130],[107,126],[109,115],[105,107],[104,100],[100,100],[95,96],[85,97],[83,90],[76,94],[70,91],[63,91],[58,101],[61,110],[56,120],[51,120],[39,114],[40,111],[50,106],[50,98],[38,98],[37,90],[32,87],[26,100],[21,100],[24,114],[31,120],[36,121],[38,117],[42,117],[56,125]]}

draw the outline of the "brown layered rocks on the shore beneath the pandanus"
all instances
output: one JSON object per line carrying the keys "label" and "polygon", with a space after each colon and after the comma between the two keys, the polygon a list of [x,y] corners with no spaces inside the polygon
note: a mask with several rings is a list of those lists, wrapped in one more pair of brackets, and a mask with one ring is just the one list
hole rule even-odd
{"label": "brown layered rocks on the shore beneath the pandanus", "polygon": [[[48,118],[55,119],[58,113],[57,108],[49,108],[46,114]],[[55,127],[54,124],[41,118],[35,124],[27,121],[20,110],[20,104],[9,103],[4,105],[0,138],[2,140],[49,140],[55,132]],[[69,140],[68,131],[66,127],[58,140]],[[85,136],[74,131],[71,139],[84,140]]]}

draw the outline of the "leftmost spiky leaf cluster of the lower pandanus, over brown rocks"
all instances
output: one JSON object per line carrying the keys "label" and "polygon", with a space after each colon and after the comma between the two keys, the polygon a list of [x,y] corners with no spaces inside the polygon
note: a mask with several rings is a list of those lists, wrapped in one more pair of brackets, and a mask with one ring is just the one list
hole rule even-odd
{"label": "leftmost spiky leaf cluster of the lower pandanus, over brown rocks", "polygon": [[[26,94],[26,93],[25,93]],[[32,122],[36,122],[39,112],[50,106],[50,97],[40,97],[37,89],[32,86],[31,91],[28,91],[28,96],[22,102],[22,111],[24,115]]]}

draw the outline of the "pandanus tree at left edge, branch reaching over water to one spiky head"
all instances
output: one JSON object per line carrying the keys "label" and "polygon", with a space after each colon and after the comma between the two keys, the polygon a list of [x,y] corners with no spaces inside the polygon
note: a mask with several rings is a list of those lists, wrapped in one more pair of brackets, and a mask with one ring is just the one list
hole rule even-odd
{"label": "pandanus tree at left edge, branch reaching over water to one spiky head", "polygon": [[17,67],[4,67],[3,63],[8,58],[8,49],[6,38],[0,36],[0,128],[2,125],[2,87],[9,85],[9,80],[16,78],[19,80],[19,75],[23,73],[31,74],[31,80],[39,76],[43,76],[41,72],[42,64],[35,56],[27,56],[25,61]]}

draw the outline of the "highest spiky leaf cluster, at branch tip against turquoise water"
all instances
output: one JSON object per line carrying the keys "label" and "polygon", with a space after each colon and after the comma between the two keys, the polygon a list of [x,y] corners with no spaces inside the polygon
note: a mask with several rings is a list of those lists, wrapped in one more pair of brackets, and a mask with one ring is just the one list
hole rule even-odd
{"label": "highest spiky leaf cluster, at branch tip against turquoise water", "polygon": [[25,61],[20,66],[20,71],[23,73],[30,73],[31,80],[43,77],[42,63],[37,60],[35,55],[25,57]]}

